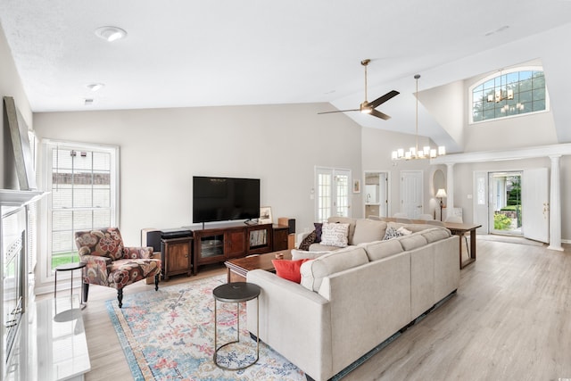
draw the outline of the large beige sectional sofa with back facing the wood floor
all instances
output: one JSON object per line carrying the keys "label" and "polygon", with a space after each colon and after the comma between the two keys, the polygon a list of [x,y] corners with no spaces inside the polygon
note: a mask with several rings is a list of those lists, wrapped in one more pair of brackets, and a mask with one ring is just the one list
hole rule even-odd
{"label": "large beige sectional sofa with back facing the wood floor", "polygon": [[[405,225],[409,236],[364,242],[385,236],[387,223],[343,221],[352,224],[350,245],[303,263],[301,284],[261,269],[247,274],[261,286],[260,339],[316,380],[335,376],[459,286],[459,237],[448,229]],[[256,332],[256,303],[247,308]]]}

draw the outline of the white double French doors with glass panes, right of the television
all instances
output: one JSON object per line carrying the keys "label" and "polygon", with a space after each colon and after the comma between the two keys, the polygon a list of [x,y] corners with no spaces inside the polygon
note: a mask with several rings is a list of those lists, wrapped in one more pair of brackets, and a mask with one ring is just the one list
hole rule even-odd
{"label": "white double French doors with glass panes, right of the television", "polygon": [[315,183],[316,221],[325,222],[331,216],[351,217],[351,170],[316,167]]}

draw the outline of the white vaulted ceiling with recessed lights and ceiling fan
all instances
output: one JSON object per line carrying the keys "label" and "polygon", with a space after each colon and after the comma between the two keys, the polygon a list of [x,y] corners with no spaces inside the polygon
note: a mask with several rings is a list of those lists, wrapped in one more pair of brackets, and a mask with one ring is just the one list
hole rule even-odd
{"label": "white vaulted ceiling with recessed lights and ceiling fan", "polygon": [[[364,127],[414,133],[414,74],[424,91],[539,60],[559,143],[571,141],[564,127],[571,123],[568,0],[2,0],[0,22],[34,112],[299,103],[353,109],[364,99],[360,61],[369,58],[368,100],[401,92],[378,108],[393,118],[347,116]],[[106,25],[128,36],[112,43],[96,37]],[[104,87],[92,92],[90,83]],[[421,135],[461,149],[429,110],[419,120]]]}

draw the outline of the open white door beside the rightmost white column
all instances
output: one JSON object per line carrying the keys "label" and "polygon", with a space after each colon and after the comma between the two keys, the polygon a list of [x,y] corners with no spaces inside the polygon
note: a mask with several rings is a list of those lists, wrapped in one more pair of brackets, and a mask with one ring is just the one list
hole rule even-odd
{"label": "open white door beside the rightmost white column", "polygon": [[525,238],[550,241],[550,198],[547,168],[524,170],[521,180],[522,226]]}

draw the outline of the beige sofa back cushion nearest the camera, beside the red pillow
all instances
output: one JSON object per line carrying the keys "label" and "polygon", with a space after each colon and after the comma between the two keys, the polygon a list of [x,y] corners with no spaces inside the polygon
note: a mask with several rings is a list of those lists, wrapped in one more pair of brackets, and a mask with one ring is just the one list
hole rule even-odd
{"label": "beige sofa back cushion nearest the camera, beside the red pillow", "polygon": [[318,292],[324,277],[368,263],[365,249],[350,246],[302,264],[302,286]]}

